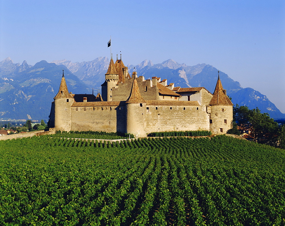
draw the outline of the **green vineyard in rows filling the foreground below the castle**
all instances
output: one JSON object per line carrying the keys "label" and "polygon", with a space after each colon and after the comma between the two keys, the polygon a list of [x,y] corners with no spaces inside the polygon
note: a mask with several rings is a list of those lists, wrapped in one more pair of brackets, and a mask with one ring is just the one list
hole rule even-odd
{"label": "green vineyard in rows filling the foreground below the castle", "polygon": [[1,225],[284,225],[285,151],[223,135],[0,141]]}

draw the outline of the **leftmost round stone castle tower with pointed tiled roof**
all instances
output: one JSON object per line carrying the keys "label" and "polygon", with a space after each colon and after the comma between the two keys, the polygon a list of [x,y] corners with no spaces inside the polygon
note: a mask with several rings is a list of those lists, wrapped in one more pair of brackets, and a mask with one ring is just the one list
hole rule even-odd
{"label": "leftmost round stone castle tower with pointed tiled roof", "polygon": [[64,73],[62,70],[62,79],[59,91],[54,97],[54,127],[56,130],[70,131],[71,129],[71,105],[74,98],[68,93]]}

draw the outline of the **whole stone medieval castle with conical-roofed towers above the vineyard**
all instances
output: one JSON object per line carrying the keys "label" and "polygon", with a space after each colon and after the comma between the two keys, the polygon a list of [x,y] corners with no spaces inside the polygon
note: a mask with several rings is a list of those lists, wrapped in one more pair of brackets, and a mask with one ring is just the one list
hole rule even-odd
{"label": "whole stone medieval castle with conical-roofed towers above the vineyard", "polygon": [[[218,72],[219,73],[219,72]],[[147,133],[231,129],[233,104],[218,75],[215,91],[181,88],[158,77],[144,79],[128,73],[121,59],[111,58],[102,96],[68,92],[64,74],[50,112],[50,126],[61,131]]]}

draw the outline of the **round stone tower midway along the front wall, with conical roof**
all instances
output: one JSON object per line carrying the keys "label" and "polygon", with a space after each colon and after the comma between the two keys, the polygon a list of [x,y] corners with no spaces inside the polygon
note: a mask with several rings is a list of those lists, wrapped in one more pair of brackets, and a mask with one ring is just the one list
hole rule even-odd
{"label": "round stone tower midway along the front wall, with conical roof", "polygon": [[145,116],[146,116],[146,101],[141,96],[139,86],[136,80],[136,73],[133,72],[133,85],[131,94],[126,101],[127,112],[127,133],[132,133],[135,137],[146,137]]}

